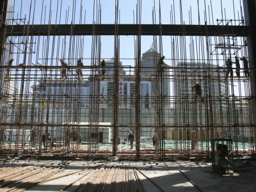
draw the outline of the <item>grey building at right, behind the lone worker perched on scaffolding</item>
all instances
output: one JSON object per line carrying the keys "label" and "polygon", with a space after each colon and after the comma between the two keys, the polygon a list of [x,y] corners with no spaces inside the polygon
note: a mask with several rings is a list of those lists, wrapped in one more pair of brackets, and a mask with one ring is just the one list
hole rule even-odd
{"label": "grey building at right, behind the lone worker perched on scaffolding", "polygon": [[[215,97],[225,97],[227,92],[227,83],[225,83],[225,73],[223,70],[217,70],[217,65],[207,63],[180,62],[176,65],[177,69],[173,72],[175,80],[175,99],[184,97],[191,102],[195,101],[195,89],[192,90],[196,83],[199,83],[202,88],[202,96],[204,98],[211,95]],[[205,68],[202,70],[200,68]],[[206,69],[207,68],[207,69]],[[223,78],[223,81],[219,81]],[[211,81],[207,81],[210,79]],[[198,99],[200,100],[200,99]],[[223,106],[223,104],[221,104]],[[220,107],[220,106],[218,106]]]}

